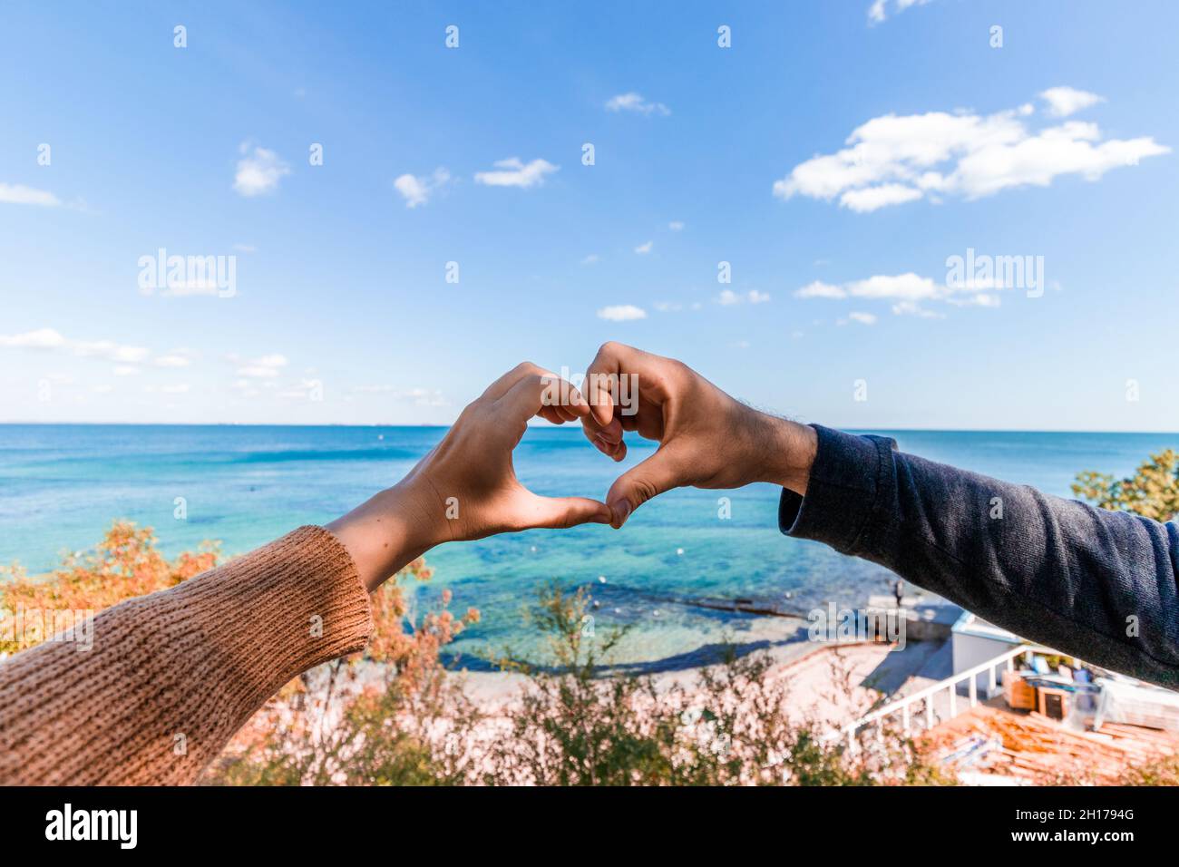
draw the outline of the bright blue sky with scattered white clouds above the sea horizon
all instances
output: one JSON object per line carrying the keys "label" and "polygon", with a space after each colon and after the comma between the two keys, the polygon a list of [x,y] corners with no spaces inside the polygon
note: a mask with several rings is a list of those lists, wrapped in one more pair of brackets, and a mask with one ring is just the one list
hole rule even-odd
{"label": "bright blue sky with scattered white clouds above the sea horizon", "polygon": [[1179,7],[874,6],[5,4],[0,420],[444,423],[620,340],[836,426],[1179,429]]}

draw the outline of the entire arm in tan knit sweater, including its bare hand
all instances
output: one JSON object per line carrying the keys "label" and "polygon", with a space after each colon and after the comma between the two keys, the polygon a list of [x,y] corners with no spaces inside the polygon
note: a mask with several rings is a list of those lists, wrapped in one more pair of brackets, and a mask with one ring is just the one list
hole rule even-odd
{"label": "entire arm in tan knit sweater, including its bare hand", "polygon": [[399,485],[94,618],[88,650],[45,642],[0,664],[0,784],[189,783],[284,683],[364,648],[368,595],[443,541],[608,523],[536,497],[512,449],[528,419],[585,400],[532,364],[493,383]]}

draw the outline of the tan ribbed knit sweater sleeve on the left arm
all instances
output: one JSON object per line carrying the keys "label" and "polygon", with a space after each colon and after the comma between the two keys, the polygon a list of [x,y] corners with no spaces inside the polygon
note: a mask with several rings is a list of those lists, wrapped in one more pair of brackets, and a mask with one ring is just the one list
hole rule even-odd
{"label": "tan ribbed knit sweater sleeve on the left arm", "polygon": [[0,664],[0,783],[191,783],[296,675],[361,650],[356,566],[299,527],[94,618],[93,646],[46,642]]}

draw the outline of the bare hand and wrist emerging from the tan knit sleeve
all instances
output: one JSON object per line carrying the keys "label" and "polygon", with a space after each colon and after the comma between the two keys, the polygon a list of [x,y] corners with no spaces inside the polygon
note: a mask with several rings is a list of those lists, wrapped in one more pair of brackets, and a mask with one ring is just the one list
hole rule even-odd
{"label": "bare hand and wrist emerging from the tan knit sleeve", "polygon": [[581,497],[538,497],[515,477],[512,451],[539,415],[560,425],[590,414],[568,382],[522,363],[470,403],[443,440],[397,485],[328,525],[371,591],[443,541],[529,527],[608,524],[610,508]]}

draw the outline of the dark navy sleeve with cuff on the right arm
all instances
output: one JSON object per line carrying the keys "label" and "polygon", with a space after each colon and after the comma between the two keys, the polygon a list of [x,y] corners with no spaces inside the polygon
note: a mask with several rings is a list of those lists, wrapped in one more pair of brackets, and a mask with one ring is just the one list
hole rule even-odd
{"label": "dark navy sleeve with cuff on the right arm", "polygon": [[1179,526],[1109,512],[818,425],[783,533],[878,563],[997,626],[1179,685]]}

